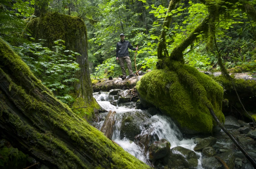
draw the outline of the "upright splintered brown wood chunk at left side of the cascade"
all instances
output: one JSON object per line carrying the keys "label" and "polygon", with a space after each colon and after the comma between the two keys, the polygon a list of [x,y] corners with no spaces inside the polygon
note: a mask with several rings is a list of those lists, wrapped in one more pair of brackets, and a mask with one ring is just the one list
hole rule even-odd
{"label": "upright splintered brown wood chunk at left side of the cascade", "polygon": [[115,124],[115,111],[109,111],[108,115],[106,116],[106,119],[103,123],[103,126],[101,127],[100,131],[104,133],[104,135],[106,137],[108,137],[109,139],[112,138],[113,136],[113,131],[114,131],[114,124]]}

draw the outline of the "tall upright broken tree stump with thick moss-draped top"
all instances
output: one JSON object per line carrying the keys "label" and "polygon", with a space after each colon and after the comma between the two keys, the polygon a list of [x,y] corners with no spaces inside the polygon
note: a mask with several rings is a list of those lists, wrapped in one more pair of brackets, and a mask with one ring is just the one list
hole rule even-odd
{"label": "tall upright broken tree stump with thick moss-draped top", "polygon": [[47,40],[45,46],[50,49],[54,46],[53,41],[62,39],[66,42],[66,50],[81,54],[81,56],[76,56],[76,62],[81,68],[80,71],[76,72],[76,78],[79,79],[79,82],[74,84],[75,91],[70,95],[76,98],[73,108],[87,107],[73,111],[91,120],[93,109],[95,107],[99,109],[99,106],[92,95],[93,89],[88,65],[87,29],[83,19],[57,12],[46,13],[40,18],[32,19],[27,24],[27,28],[32,32],[31,34],[36,41],[38,39]]}

